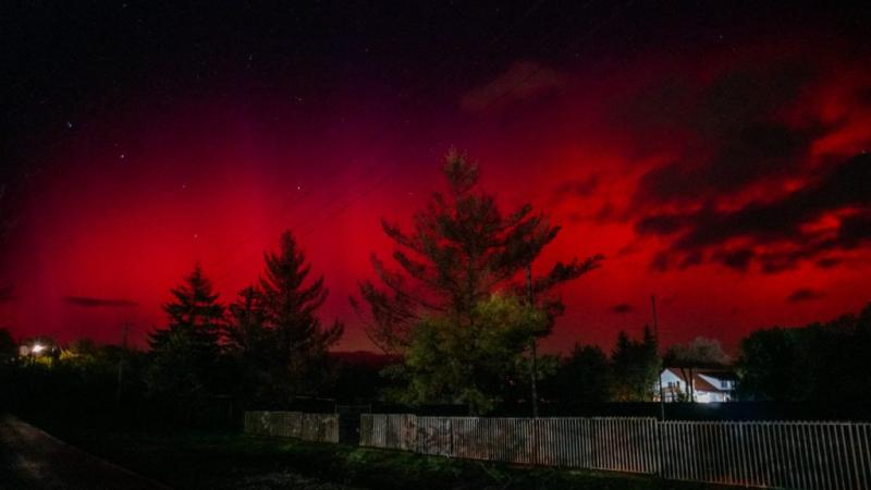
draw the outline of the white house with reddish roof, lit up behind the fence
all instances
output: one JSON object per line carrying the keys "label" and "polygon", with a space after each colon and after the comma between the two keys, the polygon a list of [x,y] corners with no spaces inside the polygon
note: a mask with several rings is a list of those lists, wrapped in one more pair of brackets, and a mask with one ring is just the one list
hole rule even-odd
{"label": "white house with reddish roof, lit up behind the fence", "polygon": [[[663,400],[689,402],[689,369],[665,368],[660,375]],[[729,402],[734,399],[737,376],[725,369],[692,369],[694,401],[698,403]]]}

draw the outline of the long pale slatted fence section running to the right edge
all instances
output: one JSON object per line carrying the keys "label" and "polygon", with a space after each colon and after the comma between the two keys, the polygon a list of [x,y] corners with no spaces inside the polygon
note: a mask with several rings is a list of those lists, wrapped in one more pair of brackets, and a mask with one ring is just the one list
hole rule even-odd
{"label": "long pale slatted fence section running to the right edge", "polygon": [[360,445],[747,487],[871,489],[871,424],[364,414]]}

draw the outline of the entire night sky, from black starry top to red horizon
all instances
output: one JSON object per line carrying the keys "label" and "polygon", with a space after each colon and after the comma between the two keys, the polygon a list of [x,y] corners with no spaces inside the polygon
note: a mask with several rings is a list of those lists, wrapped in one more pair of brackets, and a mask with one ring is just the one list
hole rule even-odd
{"label": "entire night sky, from black starry top to red horizon", "polygon": [[[0,326],[118,342],[199,261],[224,301],[292,230],[331,291],[455,146],[608,258],[544,342],[727,347],[871,301],[871,15],[831,2],[19,2],[0,8]],[[855,2],[861,3],[861,2]],[[825,7],[822,7],[825,5]]]}

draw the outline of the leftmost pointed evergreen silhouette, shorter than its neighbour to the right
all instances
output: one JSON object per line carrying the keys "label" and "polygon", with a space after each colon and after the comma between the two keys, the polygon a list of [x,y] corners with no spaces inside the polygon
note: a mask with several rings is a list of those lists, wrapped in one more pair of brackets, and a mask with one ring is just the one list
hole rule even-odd
{"label": "leftmost pointed evergreen silhouette, shorter than its neighbour to the right", "polygon": [[181,415],[191,417],[219,387],[224,308],[199,265],[171,293],[174,301],[163,306],[169,324],[149,336],[151,366],[146,382],[152,396],[173,401]]}

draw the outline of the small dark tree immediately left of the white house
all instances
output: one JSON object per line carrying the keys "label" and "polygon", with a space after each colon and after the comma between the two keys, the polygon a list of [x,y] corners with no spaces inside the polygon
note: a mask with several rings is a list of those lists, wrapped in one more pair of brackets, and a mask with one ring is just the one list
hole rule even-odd
{"label": "small dark tree immediately left of the white house", "polygon": [[629,339],[626,332],[617,335],[617,345],[611,353],[614,384],[613,399],[617,402],[651,401],[655,396],[657,378],[662,363],[657,339],[645,326],[640,341]]}

